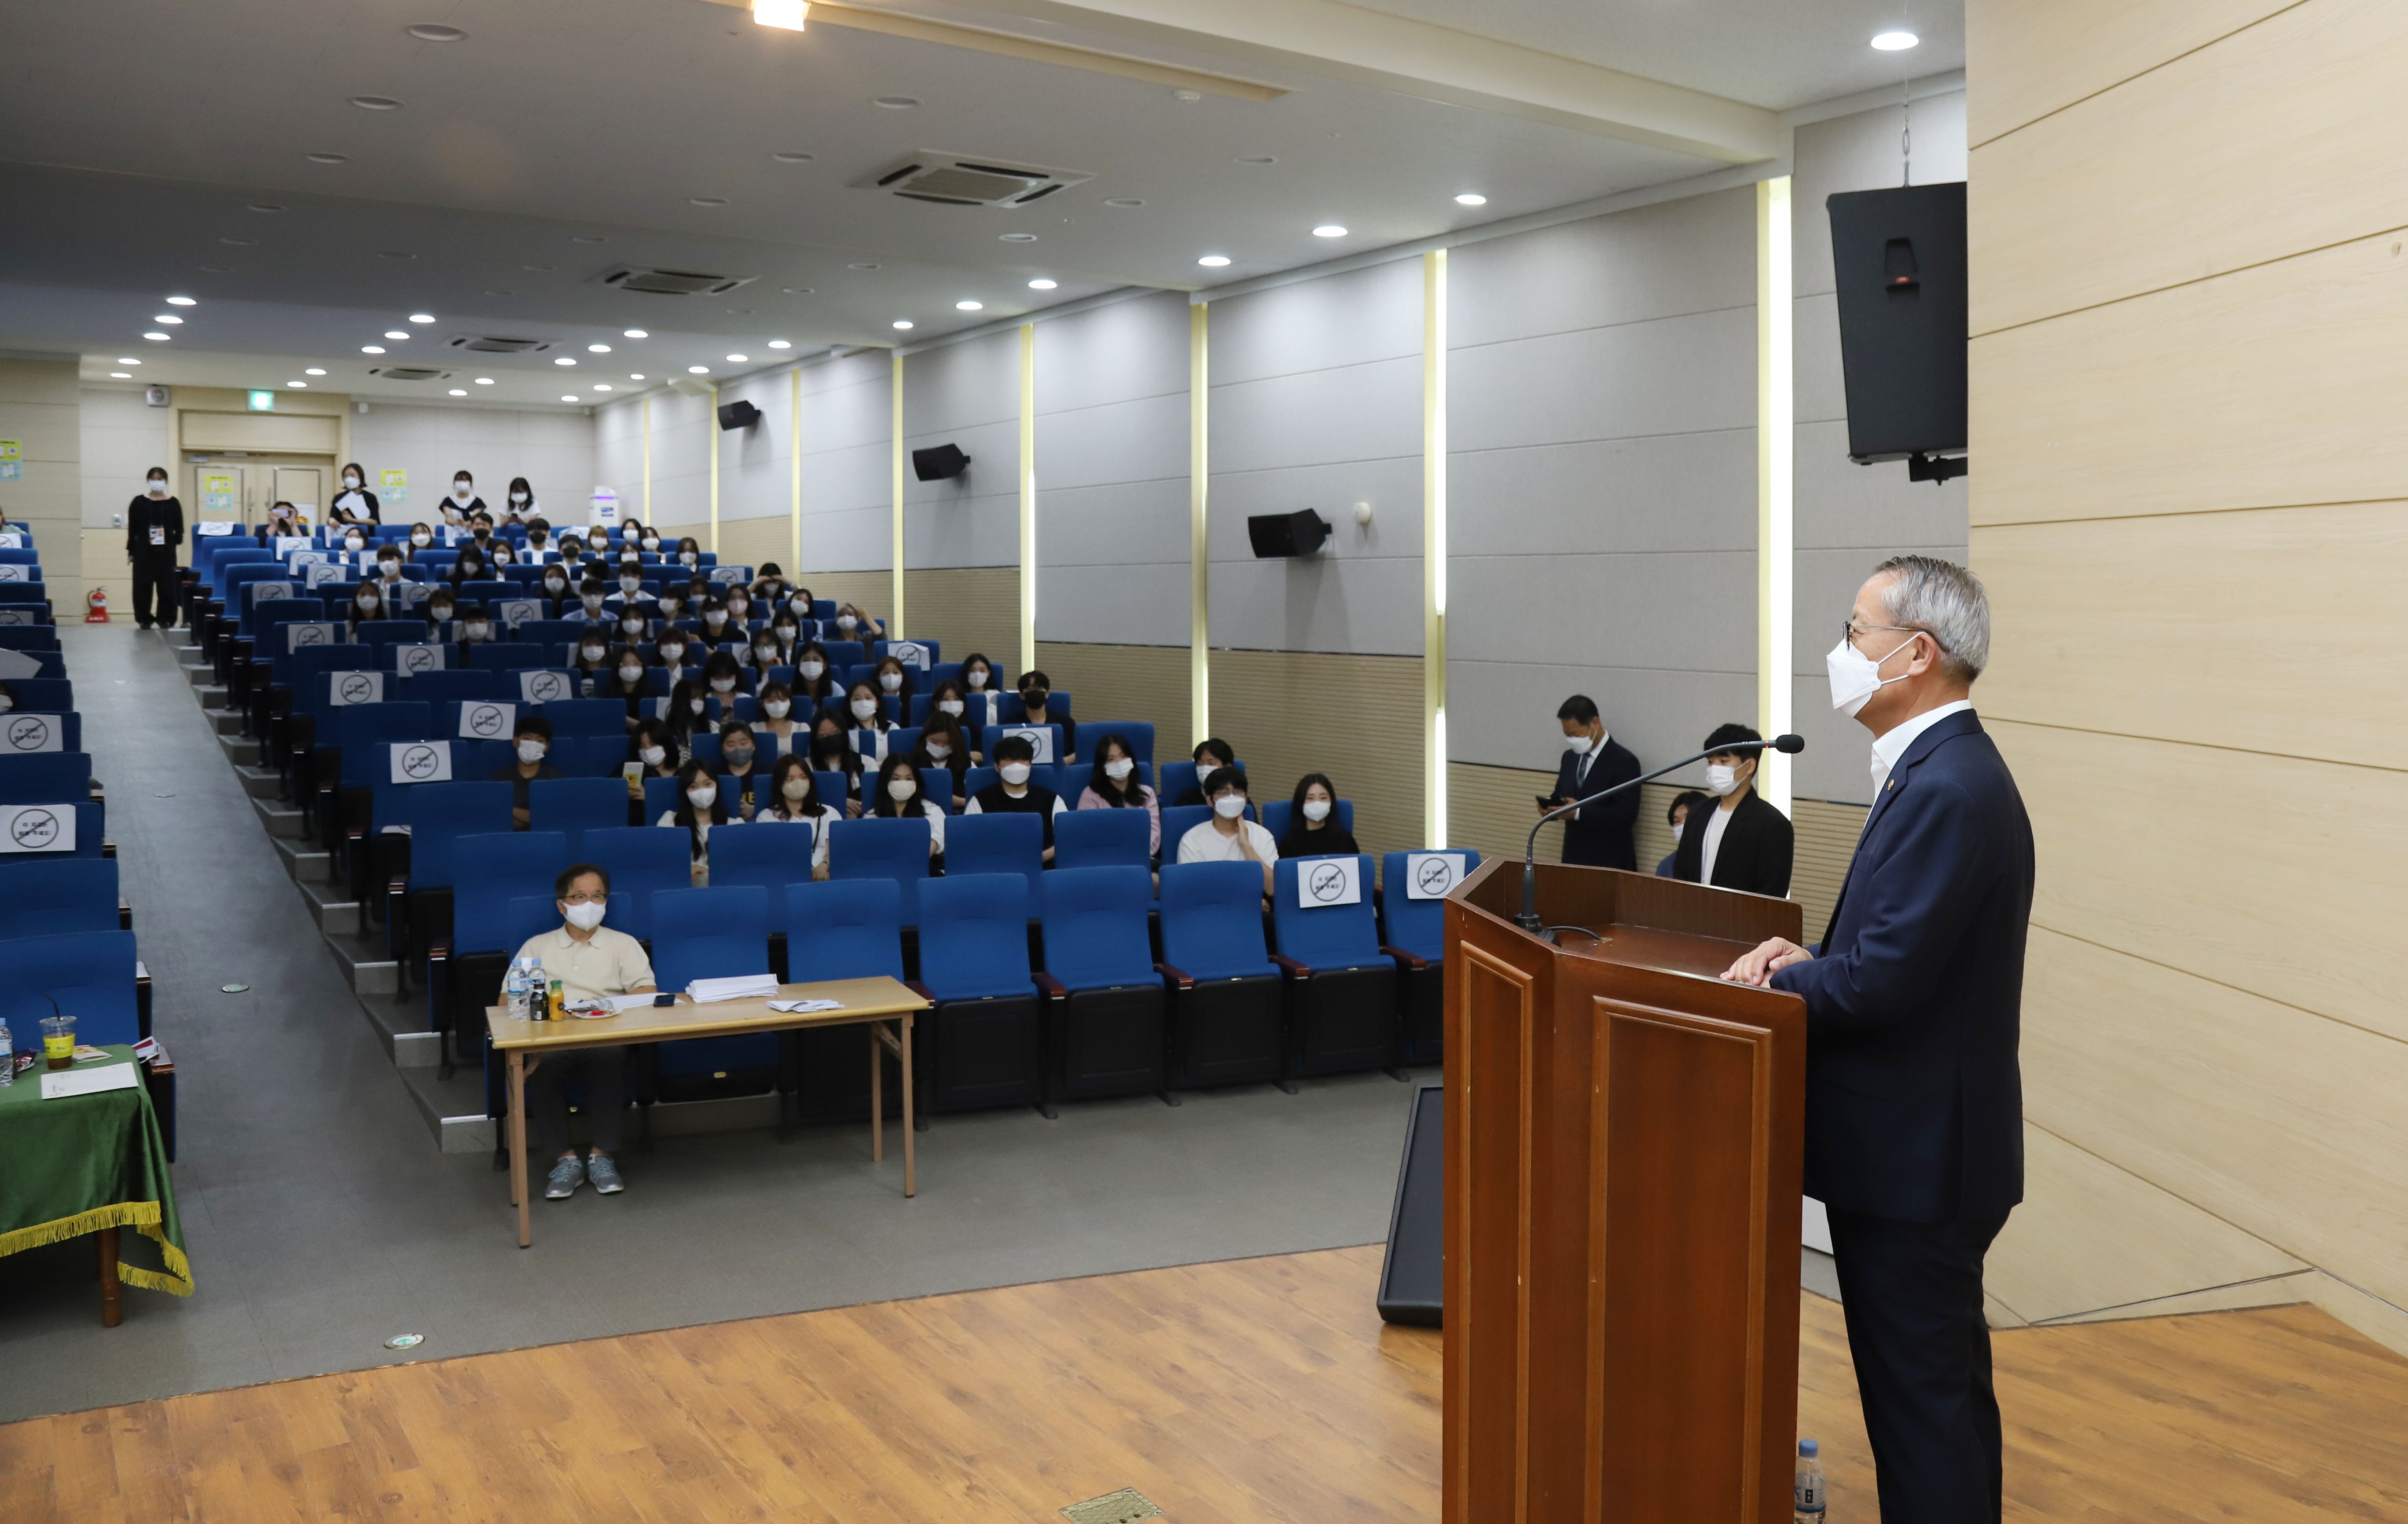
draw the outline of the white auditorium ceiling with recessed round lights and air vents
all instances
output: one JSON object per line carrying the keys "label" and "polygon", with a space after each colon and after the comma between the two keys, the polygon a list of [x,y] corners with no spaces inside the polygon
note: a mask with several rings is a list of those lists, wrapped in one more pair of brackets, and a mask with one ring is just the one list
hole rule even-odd
{"label": "white auditorium ceiling with recessed round lights and air vents", "polygon": [[[0,347],[77,352],[87,376],[140,356],[142,378],[282,385],[315,364],[327,376],[313,385],[359,395],[441,397],[491,376],[470,402],[595,402],[600,378],[626,390],[641,388],[633,371],[773,364],[775,337],[795,344],[785,354],[891,344],[908,318],[908,339],[927,339],[1112,287],[1245,279],[1719,166],[1361,77],[929,5],[1288,94],[1180,101],[1161,84],[874,31],[780,34],[696,0],[19,5],[0,14]],[[1464,24],[1433,0],[1375,7]],[[1782,106],[1895,77],[1895,55],[1864,46],[1895,10],[1510,0],[1471,19],[1505,41]],[[421,22],[467,39],[417,41],[407,26]],[[1955,67],[1955,12],[1922,29],[1934,41],[1914,51],[1917,70]],[[402,108],[364,111],[361,94]],[[920,149],[1093,178],[1016,212],[852,188]],[[1259,156],[1276,161],[1245,164]],[[1459,190],[1488,205],[1457,207]],[[1108,205],[1127,197],[1144,205]],[[1348,236],[1315,238],[1324,221]],[[1233,262],[1202,270],[1202,253]],[[628,262],[751,279],[718,299],[600,284]],[[1038,294],[1031,277],[1060,284]],[[161,306],[166,294],[197,306]],[[963,299],[985,306],[961,313]],[[412,311],[438,320],[412,325]],[[157,313],[185,318],[166,344],[140,339]],[[621,339],[631,325],[653,337]],[[388,327],[412,337],[388,342]],[[445,342],[470,332],[556,347],[453,364]],[[614,354],[590,356],[590,342]],[[578,366],[551,366],[561,354]],[[368,376],[395,361],[460,378]]]}

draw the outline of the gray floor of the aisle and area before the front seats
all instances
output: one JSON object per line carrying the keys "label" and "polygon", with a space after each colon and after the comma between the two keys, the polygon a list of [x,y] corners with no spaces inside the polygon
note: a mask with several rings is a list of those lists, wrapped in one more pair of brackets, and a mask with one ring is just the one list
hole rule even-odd
{"label": "gray floor of the aisle and area before the front seats", "polygon": [[123,624],[65,648],[176,1057],[197,1293],[128,1288],[101,1329],[89,1242],[0,1259],[0,1420],[1387,1235],[1411,1088],[1373,1074],[937,1117],[915,1199],[893,1124],[884,1165],[867,1127],[660,1139],[624,1194],[537,1201],[520,1250],[489,1156],[436,1151],[173,650]]}

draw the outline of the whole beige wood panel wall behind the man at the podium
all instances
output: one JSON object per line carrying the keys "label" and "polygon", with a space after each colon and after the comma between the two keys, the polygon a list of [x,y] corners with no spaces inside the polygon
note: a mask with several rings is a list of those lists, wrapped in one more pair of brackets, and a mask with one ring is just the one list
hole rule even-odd
{"label": "whole beige wood panel wall behind the man at the podium", "polygon": [[1967,55],[1977,698],[2040,845],[1996,1288],[2280,1278],[2408,1348],[2408,10],[1970,0]]}

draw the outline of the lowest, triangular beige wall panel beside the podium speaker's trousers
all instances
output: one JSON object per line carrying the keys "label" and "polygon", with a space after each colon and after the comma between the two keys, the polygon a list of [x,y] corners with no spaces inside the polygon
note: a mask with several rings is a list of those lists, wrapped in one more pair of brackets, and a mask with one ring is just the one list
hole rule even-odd
{"label": "lowest, triangular beige wall panel beside the podium speaker's trousers", "polygon": [[2304,1269],[2307,1262],[2025,1124],[2023,1206],[1989,1250],[1984,1286],[2018,1317],[2047,1322]]}

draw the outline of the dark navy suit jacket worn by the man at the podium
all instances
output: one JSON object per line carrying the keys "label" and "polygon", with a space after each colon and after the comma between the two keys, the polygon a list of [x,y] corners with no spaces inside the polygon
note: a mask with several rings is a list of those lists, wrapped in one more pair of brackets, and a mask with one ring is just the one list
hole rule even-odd
{"label": "dark navy suit jacket worn by the man at the podium", "polygon": [[1857,838],[1806,997],[1806,1192],[1910,1223],[2023,1199],[2032,823],[1972,713],[1914,737]]}

